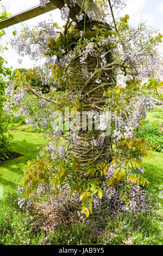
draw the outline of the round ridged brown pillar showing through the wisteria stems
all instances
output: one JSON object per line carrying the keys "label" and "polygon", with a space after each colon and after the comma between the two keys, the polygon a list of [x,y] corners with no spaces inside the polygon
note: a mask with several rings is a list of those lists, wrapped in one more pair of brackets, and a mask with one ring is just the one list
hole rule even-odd
{"label": "round ridged brown pillar showing through the wisteria stems", "polygon": [[[103,23],[90,23],[87,21],[85,23],[85,31],[87,32],[87,29],[93,30],[93,27],[98,27],[100,29],[109,29],[110,27],[108,25],[103,25]],[[83,23],[80,22],[77,25],[77,28],[79,30],[83,30],[82,28],[84,27]],[[106,57],[106,60],[108,63],[112,62],[111,57],[108,56]],[[96,57],[91,57],[88,56],[86,59],[86,67],[87,71],[89,72],[94,72],[97,66],[97,58]],[[84,80],[82,76],[82,64],[80,64],[79,57],[74,60],[74,90],[78,88],[78,91],[81,92],[82,88],[84,86]],[[106,73],[107,72],[107,73]],[[101,72],[101,84],[105,83],[115,83],[113,73],[108,72],[108,71],[103,71]],[[109,77],[109,80],[108,78]],[[95,78],[96,80],[96,78]],[[99,89],[96,89],[100,84],[91,80],[86,87],[82,91],[82,95],[85,95],[80,102],[84,103],[83,111],[103,111],[103,107],[105,105],[106,98],[103,96],[104,92],[108,91],[109,86],[105,85],[103,87],[100,87]],[[90,92],[91,91],[91,92]],[[73,93],[73,90],[72,90]],[[93,130],[93,137],[95,139],[98,138],[100,131],[95,131]],[[91,144],[92,141],[92,134],[88,130],[83,131],[79,130],[78,131],[78,136],[80,137],[78,141],[77,147],[74,147],[71,151],[71,155],[74,157],[77,157],[79,163],[82,165],[82,167],[85,167],[87,162],[91,160],[93,163],[97,164],[99,162],[106,162],[109,163],[111,161],[111,154],[109,153],[109,149],[111,148],[111,137],[105,137],[104,138],[104,143],[102,149],[98,149],[97,147],[95,148],[86,148],[85,147],[85,142],[89,141]],[[101,182],[105,180],[105,178],[99,177],[101,179]],[[105,197],[105,194],[103,194],[102,198],[102,206],[101,210],[106,210],[108,209],[110,200]],[[72,210],[80,210],[82,209],[82,204],[79,203],[76,199],[73,197],[69,198],[69,205]],[[94,214],[98,214],[99,211],[93,211]]]}

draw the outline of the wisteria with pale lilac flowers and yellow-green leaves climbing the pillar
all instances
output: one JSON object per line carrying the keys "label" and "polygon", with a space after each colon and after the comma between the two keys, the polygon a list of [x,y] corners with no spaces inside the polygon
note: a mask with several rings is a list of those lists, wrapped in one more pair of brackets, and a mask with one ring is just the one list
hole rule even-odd
{"label": "wisteria with pale lilac flowers and yellow-green leaves climbing the pillar", "polygon": [[[101,10],[100,21],[93,11],[86,11],[89,0],[83,0],[80,12],[71,20],[70,10],[76,0],[68,0],[61,8],[64,27],[53,20],[42,21],[14,36],[11,45],[20,54],[20,61],[24,55],[33,60],[45,58],[46,80],[53,76],[54,84],[62,90],[42,95],[30,85],[32,72],[17,72],[22,86],[13,99],[11,84],[5,102],[10,112],[13,102],[21,104],[26,92],[32,92],[40,101],[42,118],[39,112],[29,116],[31,102],[23,102],[21,113],[35,126],[45,127],[47,119],[51,120],[48,144],[40,151],[38,161],[28,162],[29,168],[24,171],[26,195],[40,181],[54,184],[56,193],[64,187],[70,207],[82,209],[86,217],[92,210],[107,209],[117,189],[128,206],[133,200],[131,183],[148,184],[142,175],[142,158],[149,156],[149,147],[144,138],[136,138],[136,133],[146,110],[153,108],[145,91],[156,90],[161,84],[154,77],[159,70],[157,46],[162,35],[142,22],[137,28],[130,27],[129,15],[115,21],[113,10],[124,7],[122,0],[95,2]],[[46,3],[40,1],[41,7]],[[113,23],[108,23],[110,12]],[[118,75],[124,76],[125,88],[117,85]],[[61,123],[56,121],[59,116]]]}

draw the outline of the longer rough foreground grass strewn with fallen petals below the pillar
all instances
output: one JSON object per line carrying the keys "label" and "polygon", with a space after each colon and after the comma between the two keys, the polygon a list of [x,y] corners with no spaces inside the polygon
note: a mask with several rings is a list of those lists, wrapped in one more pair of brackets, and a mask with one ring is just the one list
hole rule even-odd
{"label": "longer rough foreground grass strewn with fallen petals below the pillar", "polygon": [[152,212],[101,216],[96,229],[92,220],[62,224],[46,235],[27,211],[18,209],[16,198],[12,193],[3,201],[0,245],[162,245],[161,218]]}

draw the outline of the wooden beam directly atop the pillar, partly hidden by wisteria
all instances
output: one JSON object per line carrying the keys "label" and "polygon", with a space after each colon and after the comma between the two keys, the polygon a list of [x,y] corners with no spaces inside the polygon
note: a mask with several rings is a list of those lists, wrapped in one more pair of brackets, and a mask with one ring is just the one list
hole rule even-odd
{"label": "wooden beam directly atop the pillar, partly hidden by wisteria", "polygon": [[[61,9],[65,5],[65,0],[49,0],[51,3],[53,3],[57,8]],[[70,0],[67,0],[69,3]],[[77,14],[80,13],[81,8],[83,7],[83,0],[77,0],[77,3],[74,7],[70,9],[70,18],[73,20]],[[93,2],[93,0],[87,0],[87,8],[86,8],[86,14],[89,13],[90,11],[93,11],[95,13],[95,19],[97,21],[101,21],[102,13]],[[84,13],[84,10],[83,10]]]}

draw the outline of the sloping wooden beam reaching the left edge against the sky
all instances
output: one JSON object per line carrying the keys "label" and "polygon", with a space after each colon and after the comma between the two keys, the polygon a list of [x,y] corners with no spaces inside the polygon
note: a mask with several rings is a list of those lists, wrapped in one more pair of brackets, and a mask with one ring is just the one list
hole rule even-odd
{"label": "sloping wooden beam reaching the left edge against the sky", "polygon": [[52,11],[54,9],[57,9],[57,7],[55,7],[54,3],[51,3],[51,2],[48,2],[46,4],[46,7],[44,7],[44,8],[41,8],[40,5],[36,5],[33,8],[30,8],[26,11],[23,11],[22,13],[13,15],[13,16],[9,17],[8,19],[1,21],[0,29],[10,27],[10,26],[20,23],[22,21],[27,21],[29,19],[32,19],[36,16],[47,13],[48,11]]}

